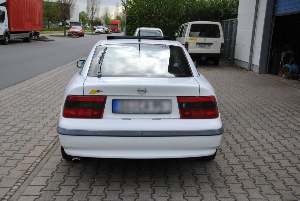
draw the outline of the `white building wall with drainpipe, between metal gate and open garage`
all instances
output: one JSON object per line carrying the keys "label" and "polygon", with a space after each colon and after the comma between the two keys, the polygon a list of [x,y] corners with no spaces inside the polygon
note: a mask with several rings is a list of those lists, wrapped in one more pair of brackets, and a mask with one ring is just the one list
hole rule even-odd
{"label": "white building wall with drainpipe, between metal gate and open garage", "polygon": [[[240,0],[238,5],[234,63],[244,68],[248,68],[249,63],[255,3],[255,0]],[[258,72],[266,5],[267,0],[259,0],[252,57],[252,70],[255,72]]]}

